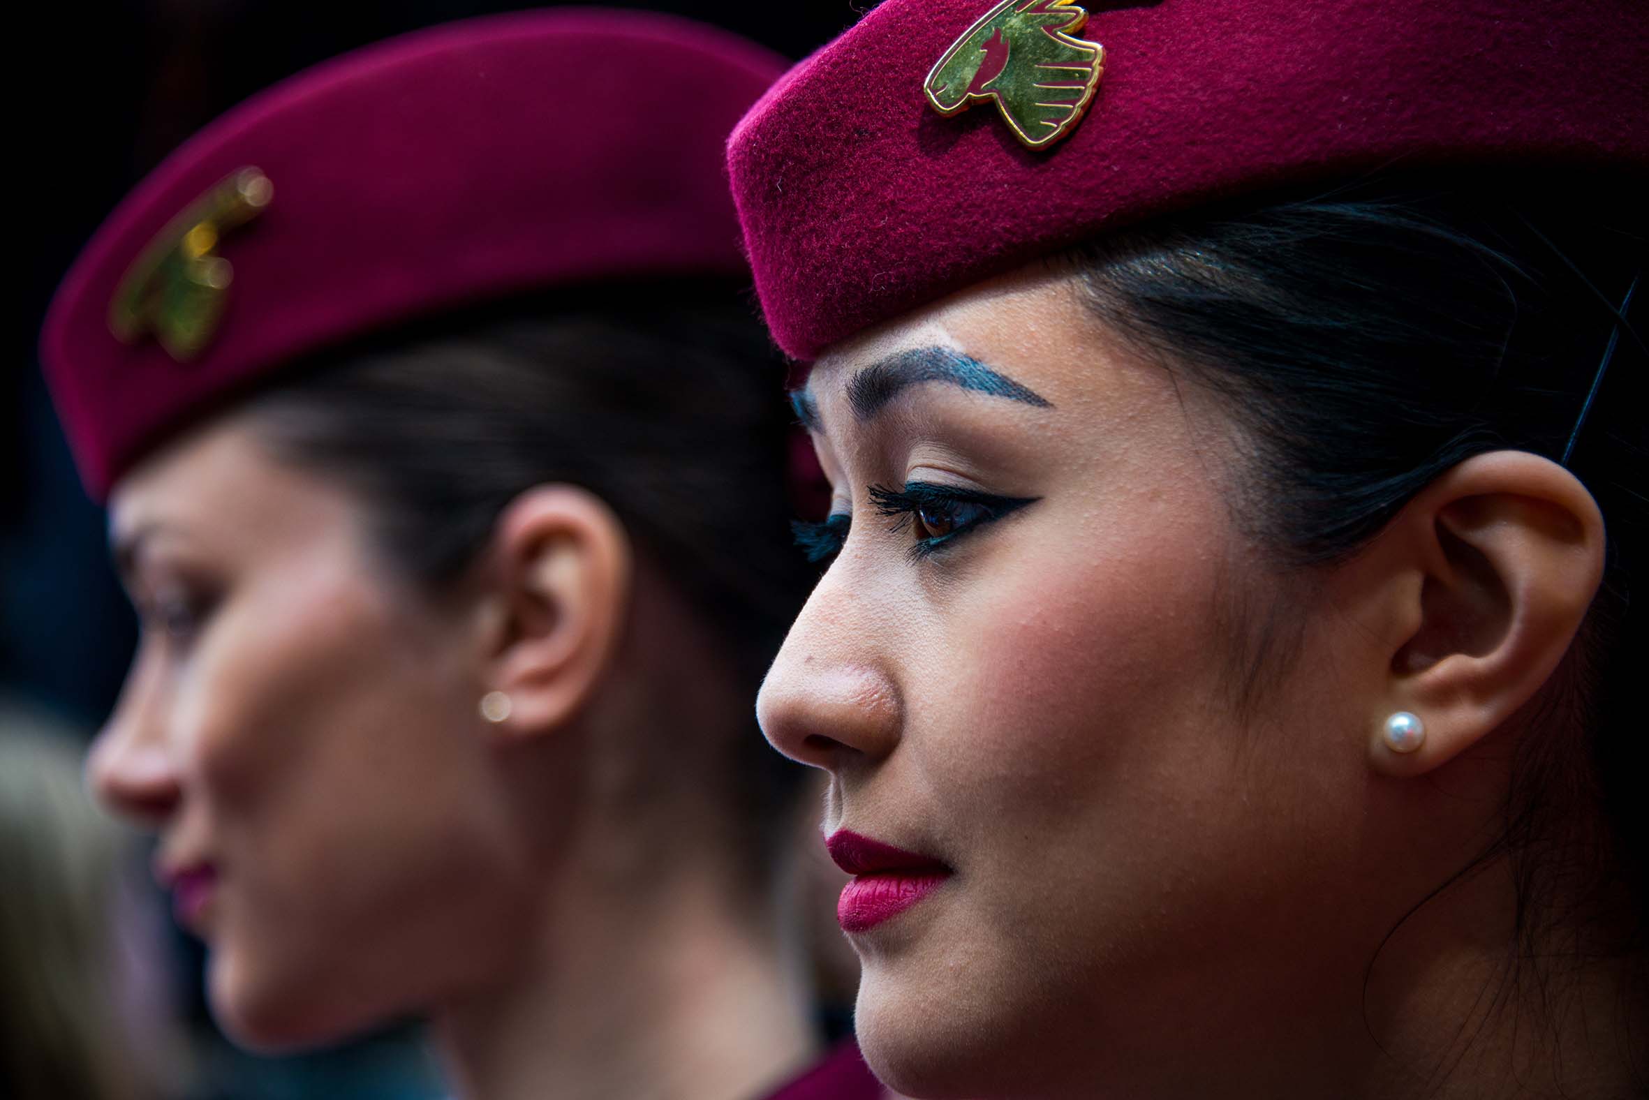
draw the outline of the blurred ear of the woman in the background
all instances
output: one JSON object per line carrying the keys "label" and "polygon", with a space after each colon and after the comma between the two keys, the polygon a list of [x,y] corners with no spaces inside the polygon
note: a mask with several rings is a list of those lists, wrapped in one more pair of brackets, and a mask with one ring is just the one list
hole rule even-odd
{"label": "blurred ear of the woman in the background", "polygon": [[571,485],[528,490],[493,533],[483,691],[510,699],[513,739],[566,724],[612,660],[630,600],[630,539],[599,496]]}

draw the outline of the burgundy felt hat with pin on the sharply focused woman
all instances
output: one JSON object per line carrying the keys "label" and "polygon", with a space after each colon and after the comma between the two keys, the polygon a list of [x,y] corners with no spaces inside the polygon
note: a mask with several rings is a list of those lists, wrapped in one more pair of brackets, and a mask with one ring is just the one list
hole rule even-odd
{"label": "burgundy felt hat with pin on the sharply focused woman", "polygon": [[1649,167],[1642,0],[1080,5],[886,0],[745,115],[734,201],[785,351],[1232,195]]}

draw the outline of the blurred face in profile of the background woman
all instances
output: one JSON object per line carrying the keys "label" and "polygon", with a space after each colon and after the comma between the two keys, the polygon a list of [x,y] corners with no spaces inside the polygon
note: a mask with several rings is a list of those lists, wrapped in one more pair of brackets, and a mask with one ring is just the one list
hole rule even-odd
{"label": "blurred face in profile of the background woman", "polygon": [[485,973],[524,876],[463,617],[234,419],[122,478],[112,538],[142,640],[91,780],[158,828],[226,1029],[330,1039]]}

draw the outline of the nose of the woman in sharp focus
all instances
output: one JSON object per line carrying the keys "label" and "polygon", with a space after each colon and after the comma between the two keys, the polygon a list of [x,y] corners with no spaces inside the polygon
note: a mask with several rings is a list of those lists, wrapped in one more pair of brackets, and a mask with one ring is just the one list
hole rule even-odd
{"label": "nose of the woman in sharp focus", "polygon": [[862,627],[826,574],[755,699],[768,744],[792,760],[834,772],[884,759],[899,744],[899,688]]}

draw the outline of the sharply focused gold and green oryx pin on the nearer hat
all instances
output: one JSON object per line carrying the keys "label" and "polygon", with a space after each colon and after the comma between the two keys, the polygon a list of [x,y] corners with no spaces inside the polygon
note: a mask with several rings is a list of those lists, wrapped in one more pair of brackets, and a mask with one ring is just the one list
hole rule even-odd
{"label": "sharply focused gold and green oryx pin on the nearer hat", "polygon": [[963,31],[922,91],[943,115],[994,99],[1014,135],[1047,148],[1082,119],[1105,73],[1105,48],[1075,38],[1072,0],[1003,0]]}

